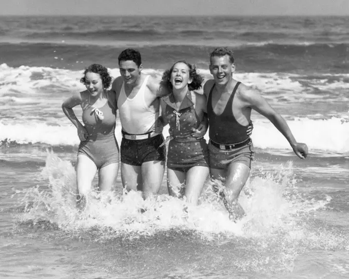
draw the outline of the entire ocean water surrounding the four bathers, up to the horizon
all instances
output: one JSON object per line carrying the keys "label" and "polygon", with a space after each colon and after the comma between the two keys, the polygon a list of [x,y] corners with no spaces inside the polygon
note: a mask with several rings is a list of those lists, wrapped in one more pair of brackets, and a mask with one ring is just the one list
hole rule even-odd
{"label": "entire ocean water surrounding the four bathers, up to the horizon", "polygon": [[[347,30],[347,17],[0,17],[0,277],[349,278]],[[110,204],[93,192],[79,214],[79,139],[61,104],[84,90],[84,67],[117,77],[133,47],[155,77],[187,59],[209,78],[216,46],[235,50],[235,78],[281,113],[306,160],[254,114],[241,221],[209,187],[185,209],[166,177],[143,201],[120,175]]]}

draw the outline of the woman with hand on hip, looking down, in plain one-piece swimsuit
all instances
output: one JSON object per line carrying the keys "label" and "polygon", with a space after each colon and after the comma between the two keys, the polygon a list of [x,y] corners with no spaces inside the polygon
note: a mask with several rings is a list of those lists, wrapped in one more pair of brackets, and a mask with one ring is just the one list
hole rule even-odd
{"label": "woman with hand on hip, looking down, in plain one-piece swimsuit", "polygon": [[[83,209],[87,202],[92,181],[98,170],[101,191],[110,191],[115,185],[119,171],[119,146],[114,135],[117,118],[115,94],[107,90],[111,76],[107,68],[90,65],[80,82],[86,90],[69,97],[62,109],[77,128],[80,139],[77,151],[76,186],[77,206]],[[82,107],[85,126],[76,118],[73,107]]]}

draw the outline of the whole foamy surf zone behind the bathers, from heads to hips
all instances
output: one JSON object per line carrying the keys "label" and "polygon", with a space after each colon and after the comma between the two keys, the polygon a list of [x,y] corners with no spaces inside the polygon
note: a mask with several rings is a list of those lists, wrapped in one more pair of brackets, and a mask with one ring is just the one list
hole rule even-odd
{"label": "whole foamy surf zone behind the bathers, from heads to hips", "polygon": [[[65,146],[79,144],[76,129],[63,114],[61,104],[69,95],[85,89],[80,83],[83,70],[28,66],[13,68],[6,64],[0,65],[0,70],[0,141]],[[117,68],[109,71],[113,77],[120,75]],[[144,69],[144,72],[160,79],[163,70]],[[200,73],[205,78],[210,77],[208,70],[200,69]],[[349,152],[348,108],[345,103],[348,100],[346,88],[349,88],[349,83],[345,83],[349,79],[348,74],[324,74],[323,78],[319,76],[308,79],[287,73],[236,73],[235,76],[263,92],[281,113],[283,108],[287,109],[289,114],[283,113],[283,116],[297,141],[306,143],[310,152]],[[328,92],[312,91],[314,88]],[[304,105],[304,100],[314,104],[313,107],[321,105],[312,111],[313,107]],[[331,106],[332,102],[341,106],[340,109],[332,106],[331,110],[326,111],[326,103]],[[293,112],[297,109],[302,115],[300,118],[294,117],[297,112]],[[78,117],[81,116],[81,108],[74,111]],[[270,122],[263,117],[253,116],[255,128],[252,138],[255,147],[290,150],[286,139]],[[117,124],[115,134],[120,143],[119,121]],[[165,128],[164,135],[167,134]]]}

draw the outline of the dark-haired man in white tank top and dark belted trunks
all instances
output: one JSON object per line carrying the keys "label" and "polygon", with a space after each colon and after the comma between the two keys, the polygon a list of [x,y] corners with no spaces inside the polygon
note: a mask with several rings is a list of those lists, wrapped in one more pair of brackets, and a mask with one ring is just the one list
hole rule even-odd
{"label": "dark-haired man in white tank top and dark belted trunks", "polygon": [[157,195],[165,170],[165,146],[160,147],[162,133],[154,132],[158,121],[160,81],[142,73],[141,54],[125,49],[119,55],[121,76],[115,78],[112,90],[122,126],[121,178],[127,190],[141,190],[143,197]]}

